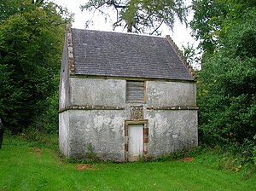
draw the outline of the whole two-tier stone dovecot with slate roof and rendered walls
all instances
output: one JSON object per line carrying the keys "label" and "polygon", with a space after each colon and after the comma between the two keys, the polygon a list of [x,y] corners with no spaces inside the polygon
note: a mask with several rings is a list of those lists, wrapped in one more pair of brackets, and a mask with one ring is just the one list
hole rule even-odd
{"label": "whole two-tier stone dovecot with slate roof and rendered walls", "polygon": [[67,29],[59,133],[67,157],[140,157],[197,146],[195,78],[170,37]]}

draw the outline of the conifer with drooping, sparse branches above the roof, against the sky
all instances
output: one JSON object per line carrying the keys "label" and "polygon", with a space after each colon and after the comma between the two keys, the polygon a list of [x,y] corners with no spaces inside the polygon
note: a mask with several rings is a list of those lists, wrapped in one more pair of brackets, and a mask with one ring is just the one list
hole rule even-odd
{"label": "conifer with drooping, sparse branches above the roof, against the sky", "polygon": [[127,32],[144,33],[151,30],[150,34],[160,34],[159,28],[163,23],[173,28],[175,17],[187,23],[188,9],[183,0],[89,0],[81,6],[82,10],[98,10],[106,16],[110,8],[117,15],[113,28],[126,27]]}

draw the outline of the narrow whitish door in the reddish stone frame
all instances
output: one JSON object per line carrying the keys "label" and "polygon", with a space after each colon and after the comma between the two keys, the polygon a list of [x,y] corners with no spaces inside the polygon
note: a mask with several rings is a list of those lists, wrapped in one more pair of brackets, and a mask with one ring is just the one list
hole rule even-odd
{"label": "narrow whitish door in the reddish stone frame", "polygon": [[128,160],[136,161],[143,156],[143,124],[128,125]]}

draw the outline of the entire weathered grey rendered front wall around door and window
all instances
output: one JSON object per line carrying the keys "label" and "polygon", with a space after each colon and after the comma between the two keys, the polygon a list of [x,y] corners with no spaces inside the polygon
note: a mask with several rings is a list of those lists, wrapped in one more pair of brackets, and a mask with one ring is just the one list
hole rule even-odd
{"label": "entire weathered grey rendered front wall around door and window", "polygon": [[197,110],[188,109],[196,106],[194,83],[147,81],[145,103],[126,103],[125,84],[70,78],[70,109],[60,114],[60,147],[67,156],[83,158],[92,146],[101,159],[124,161],[125,120],[131,120],[133,106],[143,106],[148,119],[148,156],[197,146]]}

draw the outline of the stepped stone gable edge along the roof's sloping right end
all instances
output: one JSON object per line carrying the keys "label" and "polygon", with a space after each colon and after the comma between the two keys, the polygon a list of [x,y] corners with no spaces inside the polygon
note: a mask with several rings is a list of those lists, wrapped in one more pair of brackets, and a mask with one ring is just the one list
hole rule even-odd
{"label": "stepped stone gable edge along the roof's sloping right end", "polygon": [[195,72],[194,72],[193,68],[189,65],[187,58],[183,55],[183,52],[180,49],[178,49],[177,44],[174,43],[174,41],[172,40],[170,35],[166,35],[166,39],[171,44],[172,49],[177,54],[179,60],[183,62],[184,67],[186,67],[186,69],[190,73],[191,77],[195,78]]}

